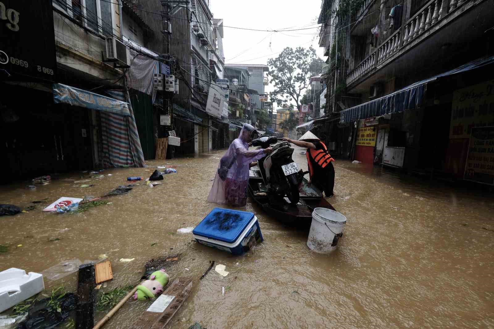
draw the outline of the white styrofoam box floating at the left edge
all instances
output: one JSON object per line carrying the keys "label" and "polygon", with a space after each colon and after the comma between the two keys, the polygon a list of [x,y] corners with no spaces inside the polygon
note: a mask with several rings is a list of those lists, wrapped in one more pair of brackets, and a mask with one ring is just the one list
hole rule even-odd
{"label": "white styrofoam box floating at the left edge", "polygon": [[44,289],[43,276],[12,267],[0,272],[0,313]]}

